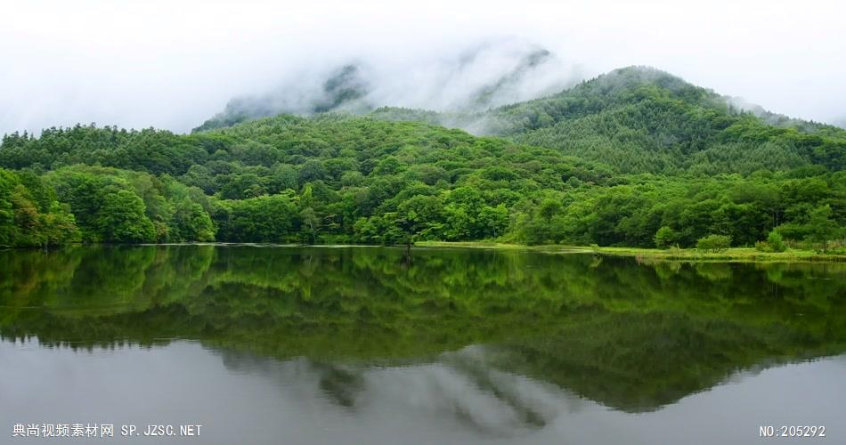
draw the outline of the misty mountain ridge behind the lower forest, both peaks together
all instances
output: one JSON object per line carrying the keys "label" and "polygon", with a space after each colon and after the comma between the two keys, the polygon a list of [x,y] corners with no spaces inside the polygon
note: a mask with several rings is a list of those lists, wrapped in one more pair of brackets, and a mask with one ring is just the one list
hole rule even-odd
{"label": "misty mountain ridge behind the lower forest, both peaks together", "polygon": [[[560,66],[543,48],[513,43],[482,45],[441,66],[421,64],[407,73],[387,75],[367,63],[350,63],[315,77],[321,79],[317,87],[289,85],[230,101],[195,132],[280,112],[345,112],[506,137],[619,173],[840,170],[846,162],[846,130],[837,126],[778,115],[648,67],[615,69],[564,88],[565,75],[549,80]],[[480,75],[489,67],[496,69]],[[402,75],[416,83],[397,84]],[[527,86],[535,84],[540,86]],[[408,99],[420,92],[426,101]],[[403,102],[433,108],[397,106]]]}

